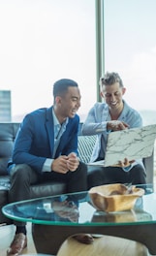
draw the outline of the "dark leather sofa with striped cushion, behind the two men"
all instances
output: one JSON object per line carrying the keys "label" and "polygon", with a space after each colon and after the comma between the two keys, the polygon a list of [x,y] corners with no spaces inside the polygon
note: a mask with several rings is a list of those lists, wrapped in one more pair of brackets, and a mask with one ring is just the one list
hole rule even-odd
{"label": "dark leather sofa with striped cushion, behind the two men", "polygon": [[[0,123],[0,224],[10,224],[11,220],[6,218],[1,209],[8,204],[8,190],[10,188],[10,177],[7,173],[8,159],[12,155],[13,145],[19,123]],[[81,136],[81,124],[78,133],[78,153],[81,161],[87,163],[90,159],[96,136]],[[147,173],[147,183],[153,183],[153,155],[143,159]],[[31,197],[44,197],[66,193],[66,185],[63,182],[47,182],[31,186]]]}

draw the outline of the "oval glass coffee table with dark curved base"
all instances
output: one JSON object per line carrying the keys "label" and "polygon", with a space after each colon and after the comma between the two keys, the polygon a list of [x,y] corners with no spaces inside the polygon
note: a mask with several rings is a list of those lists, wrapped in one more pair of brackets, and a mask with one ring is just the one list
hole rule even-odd
{"label": "oval glass coffee table with dark curved base", "polygon": [[145,194],[132,210],[96,210],[88,192],[80,192],[16,202],[2,211],[13,220],[33,223],[38,253],[56,254],[70,236],[88,233],[140,241],[150,254],[156,254],[156,193],[151,184],[141,188]]}

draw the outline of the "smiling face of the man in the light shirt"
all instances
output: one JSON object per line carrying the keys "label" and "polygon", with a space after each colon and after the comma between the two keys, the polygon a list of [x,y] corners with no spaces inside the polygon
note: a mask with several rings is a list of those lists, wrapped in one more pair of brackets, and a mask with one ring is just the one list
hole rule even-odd
{"label": "smiling face of the man in the light shirt", "polygon": [[126,88],[121,87],[119,82],[116,81],[110,85],[102,85],[101,96],[105,98],[106,103],[109,105],[109,110],[121,112],[123,109],[122,96]]}

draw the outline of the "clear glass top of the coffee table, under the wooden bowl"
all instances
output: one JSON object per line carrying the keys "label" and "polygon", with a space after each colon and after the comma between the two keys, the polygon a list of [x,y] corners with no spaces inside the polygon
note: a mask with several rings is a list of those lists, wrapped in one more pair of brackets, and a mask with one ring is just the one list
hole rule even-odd
{"label": "clear glass top of the coffee table, under the wooden bowl", "polygon": [[14,220],[47,225],[134,225],[156,223],[156,193],[153,185],[138,185],[145,194],[132,210],[96,210],[88,192],[50,196],[9,204],[3,213]]}

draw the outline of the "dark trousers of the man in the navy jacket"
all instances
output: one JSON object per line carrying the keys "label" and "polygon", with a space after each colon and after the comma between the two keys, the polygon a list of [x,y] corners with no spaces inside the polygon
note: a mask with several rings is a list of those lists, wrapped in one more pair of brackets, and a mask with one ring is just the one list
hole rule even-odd
{"label": "dark trousers of the man in the navy jacket", "polygon": [[[9,191],[9,202],[14,203],[22,200],[29,200],[30,185],[47,181],[64,181],[67,184],[67,193],[74,193],[87,190],[87,167],[79,162],[75,172],[59,174],[55,172],[43,172],[39,174],[26,164],[16,165],[11,170],[11,188]],[[52,196],[52,195],[51,195]],[[23,226],[26,223],[14,222],[16,226]]]}

